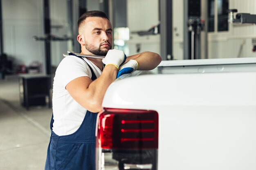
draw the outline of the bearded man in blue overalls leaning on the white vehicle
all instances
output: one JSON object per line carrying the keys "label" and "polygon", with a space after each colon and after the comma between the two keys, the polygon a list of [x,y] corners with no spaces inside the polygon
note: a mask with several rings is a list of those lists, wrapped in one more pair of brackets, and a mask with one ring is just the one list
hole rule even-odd
{"label": "bearded man in blue overalls leaning on the white vehicle", "polygon": [[[78,20],[81,54],[59,64],[53,83],[52,135],[45,170],[94,170],[97,113],[108,86],[123,73],[155,68],[161,57],[144,52],[130,57],[112,49],[112,26],[105,13],[88,11]],[[105,66],[104,66],[105,65]]]}

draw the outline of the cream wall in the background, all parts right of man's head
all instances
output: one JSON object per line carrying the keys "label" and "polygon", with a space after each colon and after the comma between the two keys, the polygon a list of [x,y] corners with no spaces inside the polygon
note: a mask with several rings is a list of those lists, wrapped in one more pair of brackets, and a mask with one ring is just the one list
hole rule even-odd
{"label": "cream wall in the background, all parts right of man's head", "polygon": [[[229,9],[238,9],[238,13],[256,14],[256,0],[229,0]],[[183,0],[173,0],[172,31],[175,60],[183,59],[183,11]],[[158,23],[158,0],[127,0],[127,12],[130,33],[147,30]],[[208,33],[208,58],[256,57],[256,53],[252,52],[253,38],[256,38],[256,25],[229,25],[229,31]],[[130,54],[136,53],[136,44],[141,44],[141,51],[160,53],[159,35],[130,34]],[[201,47],[205,48],[204,44]],[[201,55],[202,58],[206,57],[203,53]]]}

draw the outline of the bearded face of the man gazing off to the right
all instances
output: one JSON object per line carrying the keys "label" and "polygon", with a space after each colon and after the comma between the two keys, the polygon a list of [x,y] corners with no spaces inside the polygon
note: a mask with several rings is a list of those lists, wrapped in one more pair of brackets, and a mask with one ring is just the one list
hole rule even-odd
{"label": "bearded face of the man gazing off to the right", "polygon": [[112,26],[108,19],[88,17],[81,27],[85,49],[94,54],[106,56],[112,49]]}

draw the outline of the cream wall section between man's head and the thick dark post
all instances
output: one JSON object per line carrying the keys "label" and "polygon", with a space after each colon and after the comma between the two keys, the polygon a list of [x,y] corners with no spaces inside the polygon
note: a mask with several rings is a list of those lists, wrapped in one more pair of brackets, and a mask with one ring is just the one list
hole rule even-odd
{"label": "cream wall section between man's head and the thick dark post", "polygon": [[139,36],[134,31],[146,31],[159,23],[158,0],[127,0],[127,26],[130,29],[129,55],[137,53],[136,44],[141,50],[160,54],[160,35]]}

